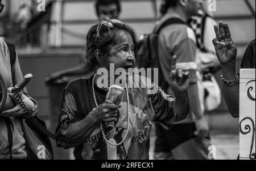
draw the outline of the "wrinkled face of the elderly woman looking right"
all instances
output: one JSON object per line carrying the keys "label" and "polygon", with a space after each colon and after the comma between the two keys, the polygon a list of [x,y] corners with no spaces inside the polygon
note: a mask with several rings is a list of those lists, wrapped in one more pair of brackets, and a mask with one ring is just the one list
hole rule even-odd
{"label": "wrinkled face of the elderly woman looking right", "polygon": [[109,57],[105,65],[109,69],[110,64],[114,63],[115,70],[123,68],[127,71],[135,65],[134,43],[131,35],[126,31],[117,32],[118,44],[112,46]]}

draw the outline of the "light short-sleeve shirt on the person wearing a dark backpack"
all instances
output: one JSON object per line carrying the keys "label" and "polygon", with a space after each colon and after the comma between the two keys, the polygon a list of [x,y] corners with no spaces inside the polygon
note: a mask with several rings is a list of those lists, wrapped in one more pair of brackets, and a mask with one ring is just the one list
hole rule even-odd
{"label": "light short-sleeve shirt on the person wearing a dark backpack", "polygon": [[[180,18],[180,16],[164,15],[157,23],[156,28],[171,18]],[[158,53],[160,68],[164,76],[164,80],[162,81],[168,84],[172,57],[173,55],[177,55],[176,66],[184,71],[190,72],[190,83],[197,83],[201,108],[204,109],[204,88],[201,80],[201,71],[198,66],[200,59],[197,58],[199,56],[199,48],[197,48],[196,35],[193,29],[187,24],[180,23],[170,24],[164,27],[159,32]],[[172,95],[170,87],[167,93]],[[181,122],[193,122],[192,115],[189,114]]]}

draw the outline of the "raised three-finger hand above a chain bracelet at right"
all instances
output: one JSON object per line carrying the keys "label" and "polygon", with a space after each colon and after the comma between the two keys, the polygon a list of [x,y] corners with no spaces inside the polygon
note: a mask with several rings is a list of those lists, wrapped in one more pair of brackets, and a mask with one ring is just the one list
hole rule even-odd
{"label": "raised three-finger hand above a chain bracelet at right", "polygon": [[237,46],[234,45],[228,24],[222,22],[214,25],[216,38],[213,45],[216,50],[218,60],[222,65],[236,61]]}

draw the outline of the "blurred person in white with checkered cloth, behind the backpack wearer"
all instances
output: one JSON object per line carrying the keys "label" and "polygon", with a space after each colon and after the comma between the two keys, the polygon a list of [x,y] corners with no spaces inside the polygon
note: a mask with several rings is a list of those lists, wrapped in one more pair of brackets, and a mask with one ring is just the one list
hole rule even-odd
{"label": "blurred person in white with checkered cloth, behind the backpack wearer", "polygon": [[215,53],[212,40],[215,37],[213,26],[215,20],[207,11],[207,1],[203,0],[197,15],[192,16],[188,21],[196,34],[198,65],[203,74],[203,86],[205,91],[204,106],[205,112],[210,112],[218,108],[221,104],[221,89],[213,74],[220,70],[220,62]]}

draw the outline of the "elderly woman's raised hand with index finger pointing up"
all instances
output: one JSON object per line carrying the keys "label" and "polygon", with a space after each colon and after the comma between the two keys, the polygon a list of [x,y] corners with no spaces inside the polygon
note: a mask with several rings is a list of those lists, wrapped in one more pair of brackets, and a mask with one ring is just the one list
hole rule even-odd
{"label": "elderly woman's raised hand with index finger pointing up", "polygon": [[175,96],[187,93],[189,87],[189,71],[184,72],[182,69],[176,69],[177,56],[172,57],[171,74],[169,84]]}

